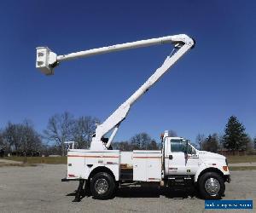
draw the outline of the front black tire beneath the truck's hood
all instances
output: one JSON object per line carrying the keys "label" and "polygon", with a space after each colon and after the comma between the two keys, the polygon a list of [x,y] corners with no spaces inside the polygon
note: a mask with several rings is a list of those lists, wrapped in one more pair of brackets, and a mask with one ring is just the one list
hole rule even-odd
{"label": "front black tire beneath the truck's hood", "polygon": [[[208,191],[210,190],[208,189],[207,191],[207,183],[212,180],[219,186],[219,190],[217,189],[216,192],[209,193]],[[216,172],[207,172],[198,181],[198,191],[203,199],[221,199],[225,191],[224,180]]]}

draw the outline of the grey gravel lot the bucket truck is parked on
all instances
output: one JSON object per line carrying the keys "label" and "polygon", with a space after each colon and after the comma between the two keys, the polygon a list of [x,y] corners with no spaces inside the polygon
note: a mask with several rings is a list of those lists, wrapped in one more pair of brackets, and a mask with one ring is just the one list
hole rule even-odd
{"label": "grey gravel lot the bucket truck is parked on", "polygon": [[[61,182],[66,165],[0,168],[1,212],[210,212],[204,200],[182,191],[163,193],[156,188],[121,188],[111,200],[85,197],[73,203],[77,181]],[[256,170],[234,171],[224,199],[256,201]],[[254,207],[255,210],[255,207]],[[247,211],[247,210],[245,210]],[[217,211],[213,211],[217,212]],[[223,212],[223,211],[222,211]]]}

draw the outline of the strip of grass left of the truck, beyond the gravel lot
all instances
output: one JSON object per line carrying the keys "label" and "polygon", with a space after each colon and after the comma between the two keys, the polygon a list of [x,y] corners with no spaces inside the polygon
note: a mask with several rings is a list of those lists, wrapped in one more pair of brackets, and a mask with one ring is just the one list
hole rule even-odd
{"label": "strip of grass left of the truck, beyond the gravel lot", "polygon": [[[6,157],[5,159],[24,161],[24,157]],[[27,164],[67,164],[67,157],[26,157]]]}

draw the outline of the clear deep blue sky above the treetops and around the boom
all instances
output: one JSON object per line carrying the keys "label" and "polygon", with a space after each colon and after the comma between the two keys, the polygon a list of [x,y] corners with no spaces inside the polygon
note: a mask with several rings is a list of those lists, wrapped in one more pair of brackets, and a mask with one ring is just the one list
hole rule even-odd
{"label": "clear deep blue sky above the treetops and around the boom", "polygon": [[4,1],[0,7],[0,128],[36,130],[68,111],[102,121],[165,60],[169,45],[63,62],[46,77],[36,47],[57,54],[186,33],[196,46],[132,108],[116,140],[176,130],[221,133],[231,115],[256,135],[255,1]]}

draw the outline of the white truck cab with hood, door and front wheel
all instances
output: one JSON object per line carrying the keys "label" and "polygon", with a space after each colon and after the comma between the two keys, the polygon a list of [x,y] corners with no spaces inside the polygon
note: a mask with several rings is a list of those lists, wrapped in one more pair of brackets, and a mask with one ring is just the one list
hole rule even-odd
{"label": "white truck cab with hood, door and front wheel", "polygon": [[182,137],[162,137],[164,179],[170,186],[193,184],[204,199],[220,199],[230,182],[227,158],[199,151]]}

